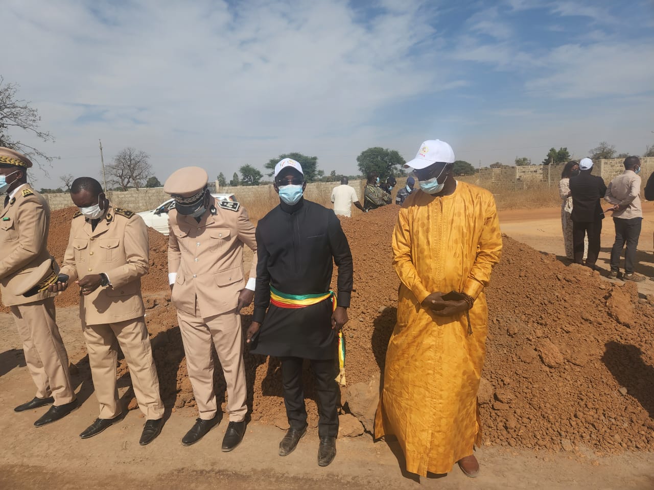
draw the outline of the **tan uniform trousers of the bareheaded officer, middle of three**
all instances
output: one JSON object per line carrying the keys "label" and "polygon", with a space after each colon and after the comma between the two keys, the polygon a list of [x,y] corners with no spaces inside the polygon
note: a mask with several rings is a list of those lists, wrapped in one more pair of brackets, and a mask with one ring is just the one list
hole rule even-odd
{"label": "tan uniform trousers of the bareheaded officer, middle of three", "polygon": [[101,419],[112,419],[122,412],[116,389],[116,364],[120,345],[129,367],[131,385],[139,408],[148,420],[163,417],[157,368],[143,317],[104,325],[86,325],[82,331],[91,365],[95,396],[100,403]]}

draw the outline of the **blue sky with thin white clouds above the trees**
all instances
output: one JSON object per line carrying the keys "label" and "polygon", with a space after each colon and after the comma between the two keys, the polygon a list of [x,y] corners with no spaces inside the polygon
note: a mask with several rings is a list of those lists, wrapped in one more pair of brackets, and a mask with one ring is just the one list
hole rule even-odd
{"label": "blue sky with thin white clouds above the trees", "polygon": [[4,0],[3,39],[0,75],[56,139],[11,133],[58,157],[37,188],[99,176],[99,139],[161,182],[287,152],[356,174],[428,139],[475,167],[654,144],[651,0]]}

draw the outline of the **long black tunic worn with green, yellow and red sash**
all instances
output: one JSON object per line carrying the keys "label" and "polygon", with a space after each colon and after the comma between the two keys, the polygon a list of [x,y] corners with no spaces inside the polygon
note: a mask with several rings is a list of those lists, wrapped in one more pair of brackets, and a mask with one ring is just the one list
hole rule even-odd
{"label": "long black tunic worn with green, yellow and red sash", "polygon": [[262,325],[251,352],[334,359],[337,342],[329,299],[305,308],[270,304],[270,286],[292,295],[329,291],[333,259],[338,267],[338,306],[350,306],[352,253],[334,211],[304,199],[293,206],[280,203],[257,224],[256,246],[253,319]]}

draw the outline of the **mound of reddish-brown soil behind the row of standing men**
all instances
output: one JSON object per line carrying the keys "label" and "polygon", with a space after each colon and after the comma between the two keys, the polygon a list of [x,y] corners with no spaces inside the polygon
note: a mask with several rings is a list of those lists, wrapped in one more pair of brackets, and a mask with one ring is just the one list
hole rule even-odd
{"label": "mound of reddish-brown soil behind the row of standing men", "polygon": [[[48,246],[58,260],[73,212],[75,208],[53,213],[57,233],[50,234]],[[390,248],[397,213],[391,205],[341,220],[354,258],[345,327],[348,384],[368,382],[383,370],[399,286]],[[162,397],[178,410],[193,408],[195,400],[175,308],[169,303],[166,242],[150,231],[150,274],[143,290]],[[58,304],[77,302],[77,294],[61,295]],[[654,299],[639,300],[632,283],[611,284],[509,237],[504,237],[502,261],[487,297],[489,336],[479,391],[485,444],[555,451],[579,446],[599,452],[654,450]],[[245,328],[252,307],[242,313]],[[224,410],[226,385],[215,361],[216,395]],[[252,419],[285,427],[279,361],[250,355],[246,348],[245,365]],[[120,374],[127,371],[121,361]],[[315,426],[309,368],[304,381],[309,423]],[[130,406],[135,408],[134,400]],[[196,416],[195,410],[186,412]]]}

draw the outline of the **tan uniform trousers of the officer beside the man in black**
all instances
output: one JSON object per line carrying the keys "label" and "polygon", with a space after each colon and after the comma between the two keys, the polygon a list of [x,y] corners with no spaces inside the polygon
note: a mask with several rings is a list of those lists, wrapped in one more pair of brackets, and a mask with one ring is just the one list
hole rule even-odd
{"label": "tan uniform trousers of the officer beside the man in black", "polygon": [[198,318],[197,301],[196,312],[198,316],[178,310],[177,319],[186,354],[188,379],[196,397],[199,416],[210,420],[218,410],[213,386],[213,343],[227,383],[227,412],[230,421],[241,422],[247,414],[241,316],[232,310],[210,318]]}

